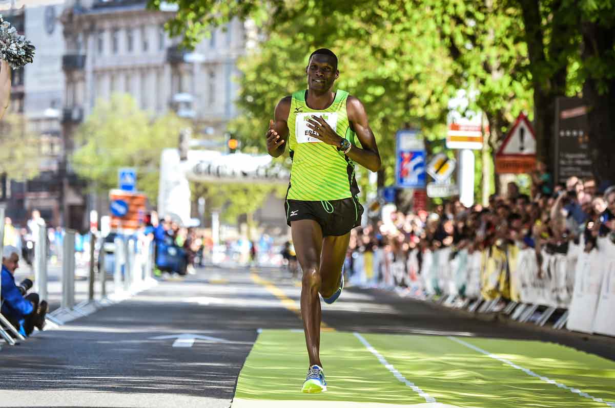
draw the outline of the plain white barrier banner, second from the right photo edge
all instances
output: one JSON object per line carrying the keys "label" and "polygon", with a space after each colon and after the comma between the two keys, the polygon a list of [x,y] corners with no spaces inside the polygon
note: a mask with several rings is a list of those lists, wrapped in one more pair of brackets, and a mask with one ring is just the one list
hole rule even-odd
{"label": "plain white barrier banner, second from the right photo edge", "polygon": [[598,296],[602,284],[603,270],[601,259],[596,249],[589,254],[583,252],[577,259],[577,267],[574,273],[573,300],[570,304],[568,330],[591,333],[596,316]]}

